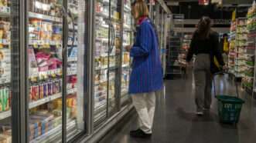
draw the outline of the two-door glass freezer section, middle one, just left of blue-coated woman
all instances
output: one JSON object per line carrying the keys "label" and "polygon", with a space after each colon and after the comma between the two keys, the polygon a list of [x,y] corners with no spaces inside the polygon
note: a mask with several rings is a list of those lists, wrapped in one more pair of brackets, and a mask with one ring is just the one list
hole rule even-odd
{"label": "two-door glass freezer section, middle one, just left of blue-coated woman", "polygon": [[118,111],[121,1],[97,0],[94,45],[94,126]]}

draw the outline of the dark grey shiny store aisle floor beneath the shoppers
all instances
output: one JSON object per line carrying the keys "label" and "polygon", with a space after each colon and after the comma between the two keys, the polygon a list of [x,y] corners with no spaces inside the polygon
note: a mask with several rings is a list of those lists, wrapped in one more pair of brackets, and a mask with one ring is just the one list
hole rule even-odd
{"label": "dark grey shiny store aisle floor beneath the shoppers", "polygon": [[[217,78],[217,91],[234,91],[234,85],[226,84],[227,76]],[[246,104],[237,126],[222,125],[218,121],[217,101],[213,98],[211,111],[203,117],[194,114],[193,78],[166,81],[166,88],[157,97],[152,138],[131,138],[129,131],[135,129],[137,115],[126,118],[128,122],[114,128],[100,143],[255,143],[256,101],[240,91]],[[228,82],[227,82],[228,83]],[[227,87],[226,89],[224,89]],[[134,111],[135,114],[135,111]]]}

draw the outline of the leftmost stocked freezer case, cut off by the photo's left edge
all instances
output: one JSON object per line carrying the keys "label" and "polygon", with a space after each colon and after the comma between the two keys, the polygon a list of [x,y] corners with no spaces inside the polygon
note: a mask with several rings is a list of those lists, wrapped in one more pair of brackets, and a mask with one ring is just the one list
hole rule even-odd
{"label": "leftmost stocked freezer case, cut off by the photo's left edge", "polygon": [[[16,96],[13,93],[13,89],[15,89],[12,85],[12,81],[14,77],[11,78],[11,75],[15,71],[13,70],[13,55],[19,54],[17,48],[14,45],[12,40],[19,39],[11,39],[11,35],[15,34],[15,32],[11,31],[11,27],[14,26],[12,22],[12,17],[14,17],[14,12],[11,10],[11,1],[0,2],[0,142],[4,141],[7,143],[11,143],[12,141],[12,122],[13,118],[12,113],[12,103],[15,102],[12,95]],[[12,22],[12,23],[11,23]],[[17,65],[18,66],[18,65]],[[16,68],[17,69],[17,68]],[[17,77],[18,75],[13,75]],[[16,87],[17,88],[17,87]],[[14,128],[15,129],[15,128]]]}

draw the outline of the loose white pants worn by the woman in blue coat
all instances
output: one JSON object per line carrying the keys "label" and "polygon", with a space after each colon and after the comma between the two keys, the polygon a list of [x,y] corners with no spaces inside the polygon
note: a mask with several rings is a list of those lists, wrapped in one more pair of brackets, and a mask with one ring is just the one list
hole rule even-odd
{"label": "loose white pants worn by the woman in blue coat", "polygon": [[131,95],[132,103],[138,113],[139,128],[152,134],[155,115],[155,92]]}

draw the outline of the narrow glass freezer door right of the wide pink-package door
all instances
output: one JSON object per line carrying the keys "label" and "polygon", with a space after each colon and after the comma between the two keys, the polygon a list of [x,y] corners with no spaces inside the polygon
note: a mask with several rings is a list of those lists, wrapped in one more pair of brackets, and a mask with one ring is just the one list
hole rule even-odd
{"label": "narrow glass freezer door right of the wide pink-package door", "polygon": [[68,44],[67,44],[67,140],[85,131],[84,124],[84,85],[86,71],[85,18],[86,1],[68,1]]}

